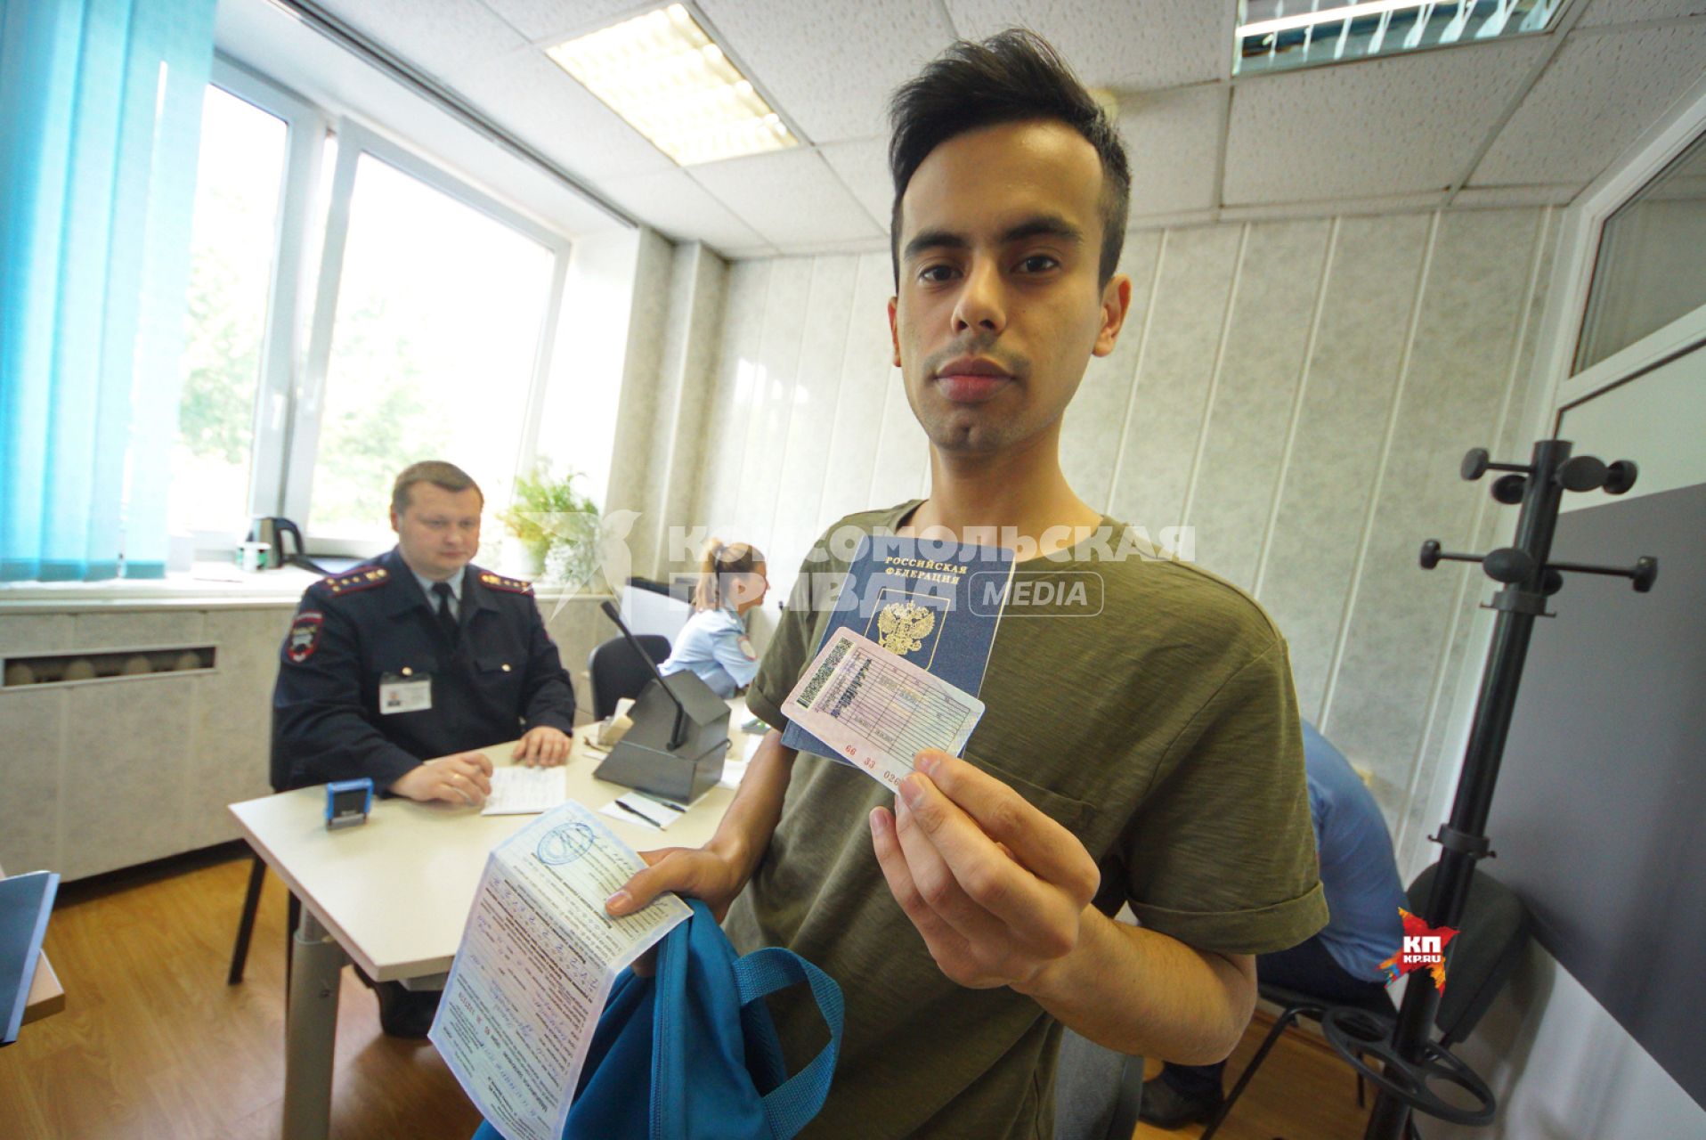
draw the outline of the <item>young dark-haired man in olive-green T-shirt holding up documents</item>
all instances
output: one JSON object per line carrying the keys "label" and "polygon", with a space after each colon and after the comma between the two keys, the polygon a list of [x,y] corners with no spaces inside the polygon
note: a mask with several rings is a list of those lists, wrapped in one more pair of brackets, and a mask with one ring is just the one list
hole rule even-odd
{"label": "young dark-haired man in olive-green T-shirt holding up documents", "polygon": [[[894,358],[931,495],[844,531],[1001,534],[1020,573],[1095,573],[1099,616],[1003,618],[966,759],[923,753],[891,795],[771,732],[717,836],[650,855],[612,896],[705,898],[742,951],[839,980],[841,1061],[812,1137],[1049,1135],[1061,1024],[1184,1063],[1249,1021],[1252,956],[1326,920],[1285,643],[1189,565],[1097,558],[1059,422],[1131,297],[1114,273],[1129,176],[1112,126],[1041,39],[960,43],[892,104]],[[814,551],[747,705],[771,725],[831,614]],[[1065,579],[1061,579],[1065,580]],[[1129,901],[1143,927],[1111,915]],[[778,1024],[809,1053],[815,1017]]]}

